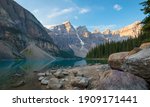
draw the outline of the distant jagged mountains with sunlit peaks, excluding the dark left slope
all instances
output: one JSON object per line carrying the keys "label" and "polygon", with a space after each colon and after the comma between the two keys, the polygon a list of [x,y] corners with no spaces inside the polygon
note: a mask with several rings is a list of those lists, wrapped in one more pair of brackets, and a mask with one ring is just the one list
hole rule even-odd
{"label": "distant jagged mountains with sunlit peaks, excluding the dark left slope", "polygon": [[65,51],[73,51],[76,56],[85,57],[93,47],[111,41],[122,41],[129,37],[136,37],[140,33],[142,25],[139,21],[116,31],[106,29],[100,32],[88,31],[86,26],[79,26],[76,29],[67,21],[60,25],[51,26],[47,29],[55,44]]}

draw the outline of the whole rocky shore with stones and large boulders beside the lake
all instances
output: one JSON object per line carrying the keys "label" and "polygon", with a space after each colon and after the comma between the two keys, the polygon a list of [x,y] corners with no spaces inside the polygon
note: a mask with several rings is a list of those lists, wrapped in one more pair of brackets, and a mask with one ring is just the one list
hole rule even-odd
{"label": "whole rocky shore with stones and large boulders beside the lake", "polygon": [[51,90],[148,90],[150,43],[131,52],[114,53],[109,64],[38,72],[41,86]]}

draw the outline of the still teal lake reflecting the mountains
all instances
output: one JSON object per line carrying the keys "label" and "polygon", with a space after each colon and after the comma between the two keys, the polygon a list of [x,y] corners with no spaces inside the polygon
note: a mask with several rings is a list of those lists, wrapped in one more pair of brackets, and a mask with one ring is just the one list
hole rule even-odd
{"label": "still teal lake reflecting the mountains", "polygon": [[[0,61],[0,89],[41,89],[35,71],[47,71],[49,69],[60,69],[92,65],[96,63],[107,63],[106,60],[56,60],[56,61],[27,61],[27,60],[5,60]],[[21,81],[25,85],[18,87]]]}

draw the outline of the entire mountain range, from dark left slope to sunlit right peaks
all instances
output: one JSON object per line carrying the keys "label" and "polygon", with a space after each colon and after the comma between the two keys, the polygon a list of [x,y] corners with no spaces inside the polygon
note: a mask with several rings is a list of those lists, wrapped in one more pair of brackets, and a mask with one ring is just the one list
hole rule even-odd
{"label": "entire mountain range, from dark left slope to sunlit right peaks", "polygon": [[116,31],[90,32],[66,21],[47,29],[14,0],[0,0],[0,59],[85,57],[96,45],[138,36],[141,28],[135,22]]}

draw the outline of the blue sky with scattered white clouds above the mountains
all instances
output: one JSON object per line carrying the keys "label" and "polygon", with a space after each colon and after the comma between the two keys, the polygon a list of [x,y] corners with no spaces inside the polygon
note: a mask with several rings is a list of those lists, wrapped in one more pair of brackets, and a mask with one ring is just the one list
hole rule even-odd
{"label": "blue sky with scattered white clouds above the mountains", "polygon": [[90,31],[116,30],[145,15],[139,5],[144,0],[15,0],[33,13],[46,27],[70,21]]}

